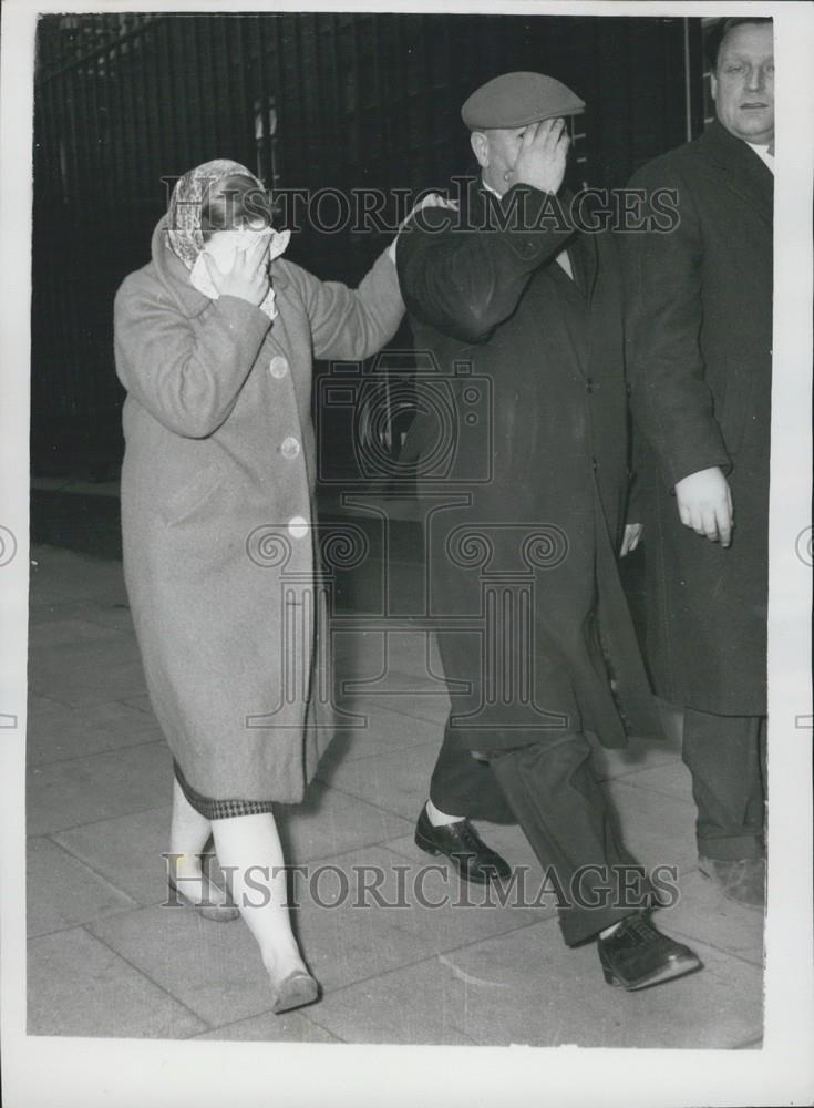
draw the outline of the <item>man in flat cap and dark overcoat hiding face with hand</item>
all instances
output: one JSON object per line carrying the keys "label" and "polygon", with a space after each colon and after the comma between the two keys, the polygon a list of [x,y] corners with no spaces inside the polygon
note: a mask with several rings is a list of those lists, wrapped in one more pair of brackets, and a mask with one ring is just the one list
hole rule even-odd
{"label": "man in flat cap and dark overcoat hiding face with hand", "polygon": [[536,73],[484,85],[462,111],[481,167],[467,204],[425,208],[399,244],[415,347],[456,419],[440,442],[427,388],[402,455],[452,700],[415,838],[484,883],[507,868],[468,818],[519,823],[566,943],[598,941],[605,979],[637,989],[700,963],[652,925],[585,736],[621,747],[626,724],[660,725],[616,561],[631,538],[615,244],[575,233],[561,189],[583,106]]}

